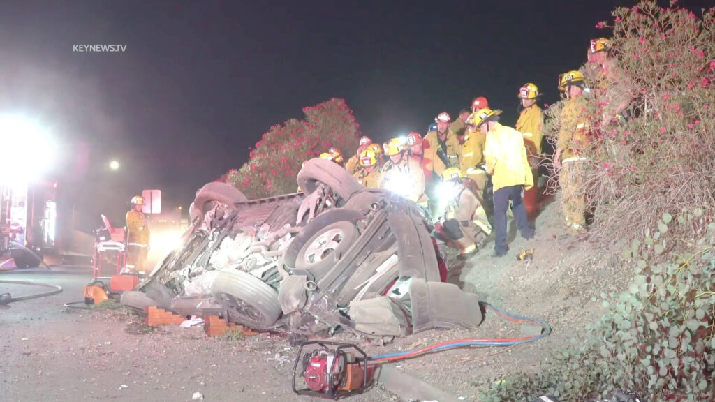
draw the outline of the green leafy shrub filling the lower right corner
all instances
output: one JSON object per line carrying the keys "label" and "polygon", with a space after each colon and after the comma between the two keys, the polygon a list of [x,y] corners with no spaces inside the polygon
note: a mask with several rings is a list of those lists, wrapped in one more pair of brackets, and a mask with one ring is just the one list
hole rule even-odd
{"label": "green leafy shrub filling the lower right corner", "polygon": [[[657,227],[623,250],[635,275],[623,293],[601,295],[608,313],[538,374],[493,383],[485,401],[533,401],[553,393],[581,402],[614,388],[636,391],[649,402],[713,400],[715,223],[694,210],[676,220],[663,215]],[[670,230],[697,240],[670,245],[675,240],[664,240]]]}

